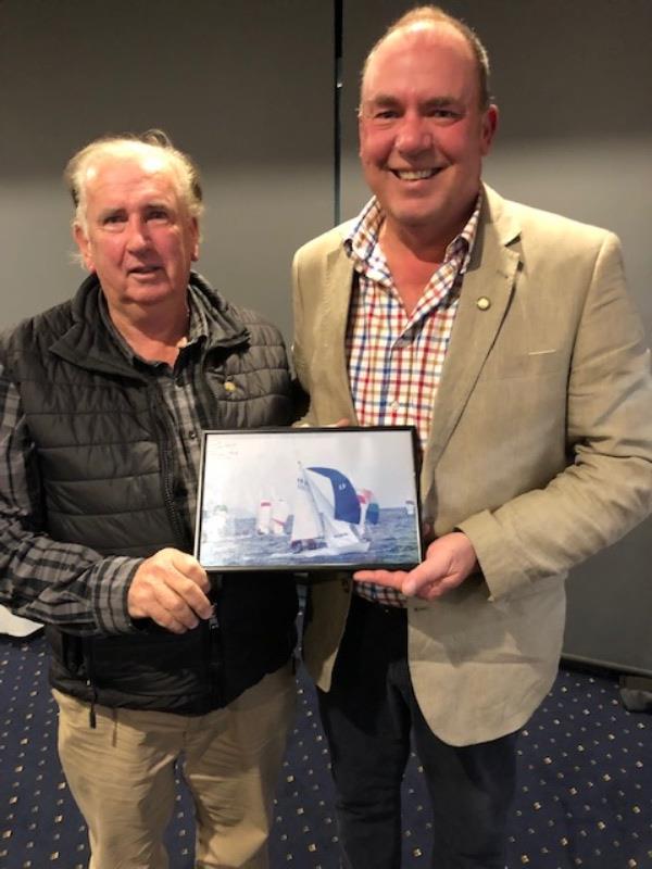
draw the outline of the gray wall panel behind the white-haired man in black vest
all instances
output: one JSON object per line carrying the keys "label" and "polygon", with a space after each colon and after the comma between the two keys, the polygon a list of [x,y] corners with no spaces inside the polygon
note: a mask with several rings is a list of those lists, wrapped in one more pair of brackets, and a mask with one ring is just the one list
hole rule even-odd
{"label": "gray wall panel behind the white-haired man in black vest", "polygon": [[290,335],[289,264],[333,223],[325,0],[0,3],[0,326],[70,297],[70,155],[162,127],[203,171],[199,269]]}

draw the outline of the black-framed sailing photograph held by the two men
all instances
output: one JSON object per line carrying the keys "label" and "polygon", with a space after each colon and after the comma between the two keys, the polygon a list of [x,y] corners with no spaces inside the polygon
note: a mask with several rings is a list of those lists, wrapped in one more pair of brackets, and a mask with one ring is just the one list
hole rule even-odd
{"label": "black-framed sailing photograph held by the two men", "polygon": [[410,426],[203,432],[196,557],[216,571],[414,567],[415,443]]}

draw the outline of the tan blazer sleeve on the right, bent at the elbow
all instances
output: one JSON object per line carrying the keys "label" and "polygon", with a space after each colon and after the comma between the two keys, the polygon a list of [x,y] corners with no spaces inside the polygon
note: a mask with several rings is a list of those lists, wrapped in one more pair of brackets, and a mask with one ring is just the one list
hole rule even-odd
{"label": "tan blazer sleeve on the right, bent at the elbow", "polygon": [[613,234],[595,257],[574,336],[566,404],[568,465],[457,527],[492,599],[564,574],[652,511],[650,351]]}

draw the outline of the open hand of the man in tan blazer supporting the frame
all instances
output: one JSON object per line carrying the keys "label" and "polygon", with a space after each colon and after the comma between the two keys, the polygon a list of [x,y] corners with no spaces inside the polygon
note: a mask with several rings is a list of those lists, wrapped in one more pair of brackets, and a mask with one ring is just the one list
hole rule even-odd
{"label": "open hand of the man in tan blazer supporting the frame", "polygon": [[469,539],[462,531],[453,531],[430,543],[426,551],[426,559],[409,572],[359,570],[353,574],[353,579],[389,585],[402,591],[409,597],[417,596],[434,601],[461,585],[477,565],[475,550]]}

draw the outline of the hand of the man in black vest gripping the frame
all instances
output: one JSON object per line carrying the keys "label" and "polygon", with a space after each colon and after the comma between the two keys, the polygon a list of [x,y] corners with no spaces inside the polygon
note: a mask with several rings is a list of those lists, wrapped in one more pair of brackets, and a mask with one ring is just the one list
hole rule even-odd
{"label": "hand of the man in black vest gripping the frame", "polygon": [[185,633],[210,618],[210,582],[197,558],[174,549],[160,550],[136,570],[127,594],[131,618],[151,618],[173,633]]}

